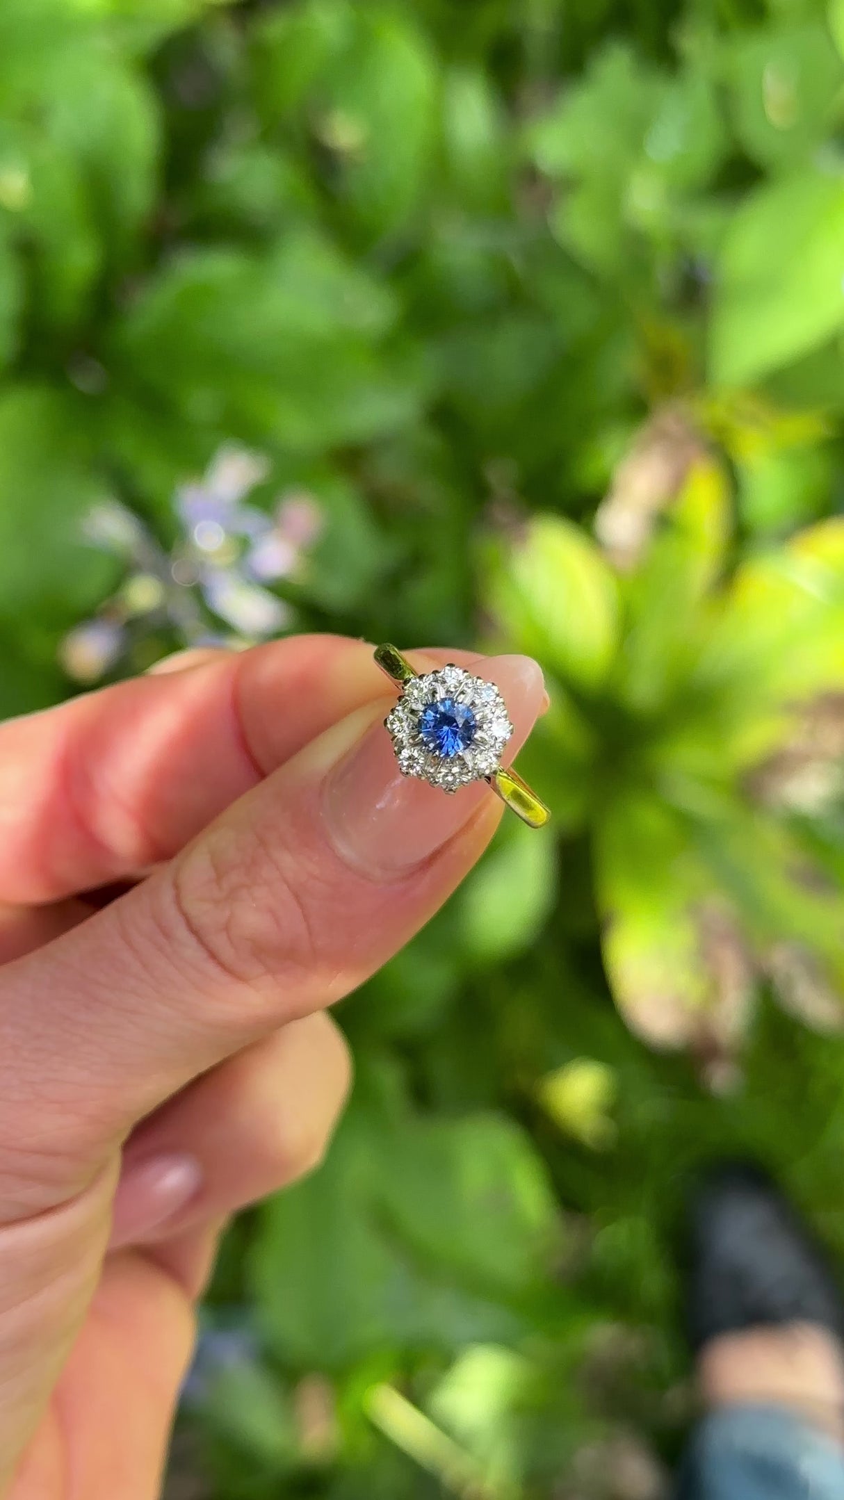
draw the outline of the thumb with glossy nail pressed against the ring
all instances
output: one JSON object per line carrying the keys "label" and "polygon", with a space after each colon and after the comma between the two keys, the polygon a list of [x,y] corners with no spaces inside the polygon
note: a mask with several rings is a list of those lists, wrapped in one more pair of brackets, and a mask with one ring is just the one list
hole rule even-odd
{"label": "thumb with glossy nail pressed against the ring", "polygon": [[[541,672],[498,657],[483,675],[516,748],[543,706]],[[169,866],[6,968],[0,1176],[28,1152],[30,1212],[189,1078],[348,994],[475,862],[501,804],[483,783],[445,796],[403,777],[381,723],[391,700],[342,718]]]}

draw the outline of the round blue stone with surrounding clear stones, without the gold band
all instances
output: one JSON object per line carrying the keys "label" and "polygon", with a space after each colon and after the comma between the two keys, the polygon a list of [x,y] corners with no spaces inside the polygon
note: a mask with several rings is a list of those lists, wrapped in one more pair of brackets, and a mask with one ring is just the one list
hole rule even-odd
{"label": "round blue stone with surrounding clear stones, without the gold band", "polygon": [[402,774],[444,792],[492,776],[513,734],[495,682],[451,663],[405,682],[385,724]]}

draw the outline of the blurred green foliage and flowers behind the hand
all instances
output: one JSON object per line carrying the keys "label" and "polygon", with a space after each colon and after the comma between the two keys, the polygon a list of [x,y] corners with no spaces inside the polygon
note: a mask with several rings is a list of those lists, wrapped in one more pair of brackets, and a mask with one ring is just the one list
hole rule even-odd
{"label": "blurred green foliage and flowers behind the hand", "polygon": [[168,1500],[658,1500],[696,1162],[844,1256],[843,423],[844,0],[3,0],[0,712],[313,628],[553,694]]}

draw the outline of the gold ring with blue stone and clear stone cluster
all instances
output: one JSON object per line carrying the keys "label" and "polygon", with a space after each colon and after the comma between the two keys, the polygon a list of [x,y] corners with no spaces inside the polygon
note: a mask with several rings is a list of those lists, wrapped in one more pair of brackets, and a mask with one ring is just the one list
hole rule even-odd
{"label": "gold ring with blue stone and clear stone cluster", "polygon": [[501,753],[513,734],[507,705],[495,686],[462,666],[418,674],[396,646],[376,646],[375,660],[400,688],[384,720],[402,776],[417,776],[442,792],[487,782],[529,828],[541,828],[550,808]]}

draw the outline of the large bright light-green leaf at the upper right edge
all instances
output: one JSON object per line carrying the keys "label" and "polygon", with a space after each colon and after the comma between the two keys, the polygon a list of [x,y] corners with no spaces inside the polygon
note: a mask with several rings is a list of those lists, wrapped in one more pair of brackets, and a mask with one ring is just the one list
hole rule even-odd
{"label": "large bright light-green leaf at the upper right edge", "polygon": [[709,360],[720,386],[757,381],[844,326],[844,178],[804,170],[736,210],[717,274]]}

